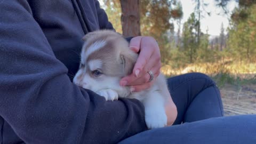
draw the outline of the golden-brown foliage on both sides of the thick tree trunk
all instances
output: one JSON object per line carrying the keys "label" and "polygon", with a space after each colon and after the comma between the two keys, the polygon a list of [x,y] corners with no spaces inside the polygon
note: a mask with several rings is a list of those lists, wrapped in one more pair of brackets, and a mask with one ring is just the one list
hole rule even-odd
{"label": "golden-brown foliage on both sides of the thick tree trunk", "polygon": [[[104,0],[109,21],[118,33],[122,34],[121,4],[118,0]],[[175,6],[177,5],[177,6]],[[175,6],[175,7],[174,7]],[[170,19],[179,19],[183,15],[181,3],[169,0],[141,0],[140,1],[140,28],[143,36],[154,37],[162,52],[163,63],[170,56],[170,44],[166,33],[173,31]]]}

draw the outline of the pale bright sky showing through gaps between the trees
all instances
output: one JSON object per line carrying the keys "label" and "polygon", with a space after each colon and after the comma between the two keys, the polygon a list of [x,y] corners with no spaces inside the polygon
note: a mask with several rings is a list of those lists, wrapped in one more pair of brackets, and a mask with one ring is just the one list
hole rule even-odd
{"label": "pale bright sky showing through gaps between the trees", "polygon": [[[103,5],[102,0],[99,1],[101,5]],[[180,0],[183,8],[183,19],[181,23],[184,23],[188,20],[190,14],[194,11],[195,3],[191,0]],[[223,22],[223,26],[227,29],[229,25],[228,18],[230,14],[223,14],[223,11],[215,6],[214,0],[204,0],[205,3],[209,4],[206,7],[207,12],[211,12],[211,15],[205,14],[204,18],[201,20],[201,30],[203,33],[206,33],[208,28],[208,34],[211,36],[217,36],[220,34],[221,23]],[[228,5],[228,10],[232,11],[235,6],[237,6],[236,2],[231,1]],[[219,14],[218,14],[219,13]],[[182,26],[181,26],[182,28]],[[178,31],[177,23],[174,22],[174,30]]]}

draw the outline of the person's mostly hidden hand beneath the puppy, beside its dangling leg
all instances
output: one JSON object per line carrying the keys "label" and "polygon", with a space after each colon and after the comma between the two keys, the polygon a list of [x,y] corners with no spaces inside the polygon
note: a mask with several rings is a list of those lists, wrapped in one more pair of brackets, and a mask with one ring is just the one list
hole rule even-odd
{"label": "person's mostly hidden hand beneath the puppy, beside its dangling leg", "polygon": [[165,114],[167,116],[167,126],[171,126],[177,118],[178,111],[175,103],[172,101],[172,97],[169,93],[167,100],[165,101]]}

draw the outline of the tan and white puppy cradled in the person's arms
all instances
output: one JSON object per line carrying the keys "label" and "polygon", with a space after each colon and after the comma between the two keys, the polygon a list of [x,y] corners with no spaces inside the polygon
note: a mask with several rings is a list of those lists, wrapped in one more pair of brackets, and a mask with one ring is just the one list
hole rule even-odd
{"label": "tan and white puppy cradled in the person's arms", "polygon": [[132,73],[138,54],[129,49],[129,43],[110,30],[86,34],[82,47],[81,64],[73,82],[90,89],[106,100],[131,98],[145,106],[145,122],[149,129],[167,124],[165,100],[170,97],[166,79],[160,74],[153,86],[141,92],[131,92],[129,86],[120,86],[122,77]]}

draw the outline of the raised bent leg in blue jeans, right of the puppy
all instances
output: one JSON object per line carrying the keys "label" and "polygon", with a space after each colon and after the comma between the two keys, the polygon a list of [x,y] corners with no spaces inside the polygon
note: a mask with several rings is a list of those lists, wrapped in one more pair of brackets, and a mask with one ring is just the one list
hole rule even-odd
{"label": "raised bent leg in blue jeans, right of the puppy", "polygon": [[223,116],[220,92],[215,82],[202,73],[171,77],[168,86],[178,116],[175,124]]}

